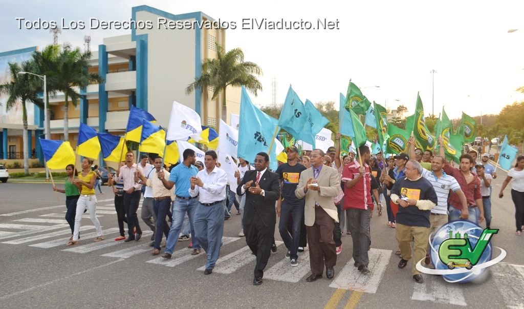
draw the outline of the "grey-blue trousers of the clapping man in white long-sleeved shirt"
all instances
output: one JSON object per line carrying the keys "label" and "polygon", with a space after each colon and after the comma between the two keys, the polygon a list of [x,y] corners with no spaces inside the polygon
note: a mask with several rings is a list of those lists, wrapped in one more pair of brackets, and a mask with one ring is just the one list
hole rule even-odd
{"label": "grey-blue trousers of the clapping man in white long-sleeved shirt", "polygon": [[204,206],[201,203],[196,206],[194,217],[196,240],[208,254],[206,269],[213,269],[216,260],[219,259],[224,232],[224,205],[225,200],[212,206]]}

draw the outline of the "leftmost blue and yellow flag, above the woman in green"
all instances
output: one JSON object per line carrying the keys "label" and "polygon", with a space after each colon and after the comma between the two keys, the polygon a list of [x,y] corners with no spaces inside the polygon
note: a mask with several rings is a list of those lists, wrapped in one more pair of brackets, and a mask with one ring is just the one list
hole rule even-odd
{"label": "leftmost blue and yellow flag, above the woman in green", "polygon": [[64,169],[69,164],[74,164],[76,157],[73,147],[69,142],[52,141],[40,138],[43,158],[50,169]]}

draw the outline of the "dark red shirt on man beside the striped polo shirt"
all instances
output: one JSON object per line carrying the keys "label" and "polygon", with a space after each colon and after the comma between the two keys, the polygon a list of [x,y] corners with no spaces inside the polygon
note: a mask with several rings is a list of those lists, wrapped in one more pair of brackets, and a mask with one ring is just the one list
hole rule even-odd
{"label": "dark red shirt on man beside the striped polo shirt", "polygon": [[[466,177],[462,174],[460,169],[451,167],[450,163],[445,161],[444,162],[444,172],[447,175],[450,175],[454,177],[457,180],[457,183],[459,183],[461,190],[464,192],[464,195],[466,196],[467,206],[477,206],[477,202],[475,200],[482,199],[481,194],[481,179],[478,179],[477,175],[474,173],[471,173],[473,175],[473,180],[471,183],[467,183]],[[451,191],[450,197],[447,199],[448,203],[450,203],[451,206],[455,207],[456,209],[462,210],[462,203],[460,201],[459,196]]]}

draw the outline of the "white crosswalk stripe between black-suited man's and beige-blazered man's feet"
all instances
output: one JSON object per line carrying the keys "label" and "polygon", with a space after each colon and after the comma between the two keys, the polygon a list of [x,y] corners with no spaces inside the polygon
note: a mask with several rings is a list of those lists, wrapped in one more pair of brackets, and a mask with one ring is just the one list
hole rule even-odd
{"label": "white crosswalk stripe between black-suited man's and beige-blazered man's feet", "polygon": [[291,267],[290,259],[283,258],[264,272],[264,278],[293,283],[299,282],[311,270],[311,265],[309,264],[309,249],[305,248],[304,252],[300,253],[298,257],[299,264],[297,267]]}

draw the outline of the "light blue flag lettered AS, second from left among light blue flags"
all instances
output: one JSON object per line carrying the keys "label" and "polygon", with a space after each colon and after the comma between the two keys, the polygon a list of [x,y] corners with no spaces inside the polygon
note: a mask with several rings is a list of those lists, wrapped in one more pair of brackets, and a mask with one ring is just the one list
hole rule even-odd
{"label": "light blue flag lettered AS, second from left among light blue flags", "polygon": [[[280,117],[278,118],[278,126],[298,138],[307,121],[308,113],[305,111],[304,103],[302,103],[297,93],[294,92],[291,85],[289,85],[288,94],[286,95],[286,100],[284,101]],[[311,136],[304,137],[307,138],[307,140],[303,140],[303,138],[298,139],[310,144],[313,142]]]}

